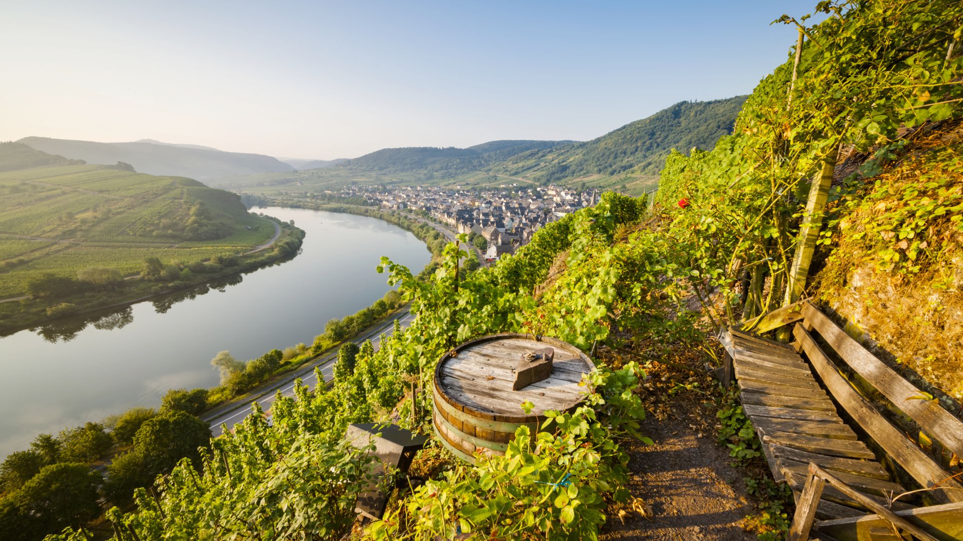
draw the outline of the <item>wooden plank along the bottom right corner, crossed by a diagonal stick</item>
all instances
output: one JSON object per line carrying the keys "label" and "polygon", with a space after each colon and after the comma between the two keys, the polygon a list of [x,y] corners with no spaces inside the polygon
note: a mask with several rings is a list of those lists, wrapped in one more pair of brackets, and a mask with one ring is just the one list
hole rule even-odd
{"label": "wooden plank along the bottom right corner, crossed by a diagonal stick", "polygon": [[[898,517],[941,540],[963,539],[963,502],[929,505],[896,511]],[[887,522],[879,515],[861,514],[859,517],[842,518],[820,522],[816,529],[839,541],[862,541],[859,532],[869,528],[886,527]]]}

